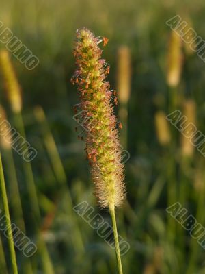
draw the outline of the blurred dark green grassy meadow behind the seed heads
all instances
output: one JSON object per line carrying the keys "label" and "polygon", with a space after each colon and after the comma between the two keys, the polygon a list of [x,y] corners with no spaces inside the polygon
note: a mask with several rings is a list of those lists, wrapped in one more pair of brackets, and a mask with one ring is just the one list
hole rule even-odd
{"label": "blurred dark green grassy meadow behind the seed heads", "polygon": [[[159,112],[189,112],[192,105],[187,116],[205,134],[205,64],[186,45],[176,45],[180,57],[173,62],[180,64],[181,73],[179,82],[170,86],[172,31],[165,23],[179,14],[205,38],[204,1],[3,0],[0,14],[0,21],[40,60],[28,71],[11,54],[22,88],[25,134],[38,151],[32,170],[15,151],[1,148],[12,221],[38,245],[31,259],[16,250],[19,273],[117,273],[115,252],[72,210],[86,200],[110,222],[109,212],[96,205],[85,145],[77,138],[72,118],[72,108],[79,103],[77,87],[70,84],[75,69],[72,48],[81,27],[109,38],[102,58],[111,66],[108,80],[117,93],[123,77],[120,49],[128,52],[131,93],[115,108],[121,113],[122,144],[131,154],[125,166],[127,201],[117,210],[119,234],[131,245],[122,256],[124,273],[205,273],[204,249],[165,211],[179,201],[205,225],[205,159],[189,145],[188,153],[183,150],[182,135],[170,123],[157,122]],[[0,90],[8,121],[22,130],[5,96],[3,77]],[[166,131],[170,140],[163,142],[160,132]],[[25,225],[15,210],[16,180]],[[1,241],[0,273],[12,273],[3,235]]]}

